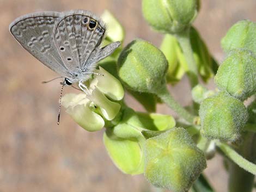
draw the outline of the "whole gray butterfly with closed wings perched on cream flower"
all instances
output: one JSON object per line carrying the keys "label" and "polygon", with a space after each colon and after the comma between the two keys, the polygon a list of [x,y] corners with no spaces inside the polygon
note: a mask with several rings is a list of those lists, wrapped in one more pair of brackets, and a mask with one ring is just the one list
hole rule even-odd
{"label": "whole gray butterfly with closed wings perched on cream flower", "polygon": [[[87,94],[83,82],[94,73],[100,60],[120,46],[117,41],[101,47],[106,24],[87,10],[23,15],[10,24],[9,30],[23,48],[64,78],[63,86],[78,83]],[[62,91],[60,100],[61,95]]]}

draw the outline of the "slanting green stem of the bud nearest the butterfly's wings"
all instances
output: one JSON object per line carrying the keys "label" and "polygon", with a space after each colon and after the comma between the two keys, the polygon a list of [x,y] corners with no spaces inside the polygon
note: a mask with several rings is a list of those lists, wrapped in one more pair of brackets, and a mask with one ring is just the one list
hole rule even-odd
{"label": "slanting green stem of the bud nearest the butterfly's wings", "polygon": [[164,85],[162,89],[159,89],[155,94],[187,122],[190,122],[191,124],[195,122],[197,117],[188,113],[186,109],[184,109],[178,102],[174,100],[173,96],[170,95],[169,91],[167,90],[166,85]]}

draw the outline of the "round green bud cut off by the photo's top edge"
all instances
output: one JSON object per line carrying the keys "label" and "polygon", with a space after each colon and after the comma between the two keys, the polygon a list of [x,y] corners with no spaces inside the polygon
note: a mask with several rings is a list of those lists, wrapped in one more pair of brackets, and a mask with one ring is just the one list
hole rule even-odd
{"label": "round green bud cut off by the photo's top edge", "polygon": [[197,16],[198,0],[143,0],[145,20],[163,33],[179,33],[189,27]]}

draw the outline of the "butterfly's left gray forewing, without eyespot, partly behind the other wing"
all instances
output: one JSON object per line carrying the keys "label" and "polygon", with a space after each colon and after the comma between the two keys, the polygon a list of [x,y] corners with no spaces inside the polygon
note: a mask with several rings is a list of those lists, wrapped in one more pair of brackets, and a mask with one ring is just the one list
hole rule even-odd
{"label": "butterfly's left gray forewing, without eyespot, partly behind the other wing", "polygon": [[51,70],[64,77],[71,77],[52,39],[53,28],[60,13],[45,11],[16,18],[10,26],[14,38]]}

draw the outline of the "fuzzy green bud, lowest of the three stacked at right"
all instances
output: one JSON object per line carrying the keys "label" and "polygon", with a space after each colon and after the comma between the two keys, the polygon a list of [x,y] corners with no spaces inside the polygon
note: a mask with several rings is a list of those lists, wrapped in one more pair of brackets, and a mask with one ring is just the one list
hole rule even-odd
{"label": "fuzzy green bud, lowest of the three stacked at right", "polygon": [[243,103],[227,92],[218,92],[200,105],[202,134],[209,139],[235,141],[247,121]]}

